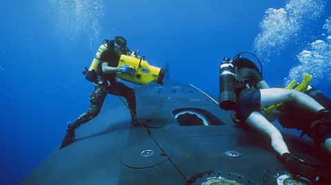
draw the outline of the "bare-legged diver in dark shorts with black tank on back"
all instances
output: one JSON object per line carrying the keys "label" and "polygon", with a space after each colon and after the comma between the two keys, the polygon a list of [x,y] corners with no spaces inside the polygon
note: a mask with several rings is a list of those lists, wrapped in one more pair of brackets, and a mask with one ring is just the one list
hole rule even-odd
{"label": "bare-legged diver in dark shorts with black tank on back", "polygon": [[[227,111],[234,111],[239,120],[268,135],[272,148],[281,156],[282,162],[290,171],[299,173],[312,182],[317,180],[330,182],[331,171],[311,166],[290,153],[280,131],[259,110],[261,107],[269,107],[282,102],[295,102],[298,106],[309,110],[315,120],[320,121],[331,119],[331,112],[300,91],[282,88],[270,89],[257,66],[248,58],[239,57],[240,54],[234,56],[232,61],[230,58],[223,57],[224,62],[221,63],[219,70],[219,107]],[[254,54],[252,55],[254,56]],[[257,57],[255,56],[255,58]],[[259,58],[257,60],[259,61]]]}

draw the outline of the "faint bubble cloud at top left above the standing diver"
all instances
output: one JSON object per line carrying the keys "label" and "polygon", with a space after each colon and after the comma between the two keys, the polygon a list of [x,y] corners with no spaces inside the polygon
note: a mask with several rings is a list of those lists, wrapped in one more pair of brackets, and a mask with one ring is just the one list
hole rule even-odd
{"label": "faint bubble cloud at top left above the standing diver", "polygon": [[63,39],[77,41],[80,35],[89,39],[90,47],[99,42],[99,22],[103,17],[102,1],[93,0],[49,0],[54,10],[54,25]]}

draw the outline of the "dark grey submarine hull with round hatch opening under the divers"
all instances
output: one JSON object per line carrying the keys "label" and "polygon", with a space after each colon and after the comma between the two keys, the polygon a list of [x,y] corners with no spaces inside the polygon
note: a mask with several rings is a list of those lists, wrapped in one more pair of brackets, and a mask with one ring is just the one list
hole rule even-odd
{"label": "dark grey submarine hull with round hatch opening under the divers", "polygon": [[[130,125],[120,99],[105,102],[72,144],[55,149],[21,185],[277,184],[292,177],[267,137],[232,122],[197,89],[164,80],[134,90],[140,127]],[[281,131],[291,151],[326,164],[310,140]]]}

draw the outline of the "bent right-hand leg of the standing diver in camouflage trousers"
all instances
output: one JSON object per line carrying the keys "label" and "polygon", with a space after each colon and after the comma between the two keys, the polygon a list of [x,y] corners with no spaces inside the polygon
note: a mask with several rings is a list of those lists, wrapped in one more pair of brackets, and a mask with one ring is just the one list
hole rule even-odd
{"label": "bent right-hand leg of the standing diver in camouflage trousers", "polygon": [[117,81],[110,83],[110,87],[108,87],[107,90],[109,94],[123,96],[126,98],[126,102],[128,102],[128,107],[130,109],[132,124],[135,124],[137,122],[137,106],[136,94],[134,90],[131,87]]}

